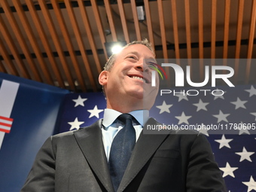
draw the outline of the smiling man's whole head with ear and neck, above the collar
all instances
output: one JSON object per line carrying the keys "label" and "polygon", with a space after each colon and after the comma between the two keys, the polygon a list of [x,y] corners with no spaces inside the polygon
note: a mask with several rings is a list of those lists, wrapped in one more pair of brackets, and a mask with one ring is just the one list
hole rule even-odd
{"label": "smiling man's whole head with ear and neck, above the collar", "polygon": [[[107,108],[128,113],[149,110],[154,105],[158,87],[151,87],[152,69],[144,59],[155,60],[153,50],[146,43],[130,44],[120,53],[111,56],[105,71],[99,75],[99,84],[105,90]],[[148,103],[147,106],[143,107],[142,99]]]}

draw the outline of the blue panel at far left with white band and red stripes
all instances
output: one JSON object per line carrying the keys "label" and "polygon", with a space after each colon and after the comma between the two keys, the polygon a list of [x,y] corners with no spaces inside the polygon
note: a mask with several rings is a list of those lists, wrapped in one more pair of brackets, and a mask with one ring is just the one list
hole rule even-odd
{"label": "blue panel at far left with white band and red stripes", "polygon": [[17,192],[69,90],[0,72],[0,191]]}

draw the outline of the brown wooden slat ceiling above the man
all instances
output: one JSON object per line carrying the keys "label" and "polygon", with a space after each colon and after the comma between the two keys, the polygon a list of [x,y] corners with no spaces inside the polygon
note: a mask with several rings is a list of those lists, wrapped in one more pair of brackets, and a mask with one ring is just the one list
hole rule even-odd
{"label": "brown wooden slat ceiling above the man", "polygon": [[234,81],[255,84],[255,23],[254,0],[1,0],[0,72],[99,91],[105,42],[148,38],[157,58],[248,58]]}

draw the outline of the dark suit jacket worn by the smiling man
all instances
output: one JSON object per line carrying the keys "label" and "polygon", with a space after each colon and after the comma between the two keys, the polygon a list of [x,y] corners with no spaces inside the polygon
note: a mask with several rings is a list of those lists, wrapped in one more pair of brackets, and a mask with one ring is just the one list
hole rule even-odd
{"label": "dark suit jacket worn by the smiling man", "polygon": [[[158,124],[150,118],[146,124]],[[102,142],[102,120],[51,136],[35,158],[23,192],[114,192]],[[141,134],[117,191],[226,191],[202,134]]]}

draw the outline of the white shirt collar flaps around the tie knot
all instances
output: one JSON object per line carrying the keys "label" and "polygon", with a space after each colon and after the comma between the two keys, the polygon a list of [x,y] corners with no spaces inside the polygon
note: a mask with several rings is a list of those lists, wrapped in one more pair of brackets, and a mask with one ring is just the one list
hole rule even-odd
{"label": "white shirt collar flaps around the tie knot", "polygon": [[[112,123],[114,123],[114,120],[117,119],[117,117],[122,114],[119,111],[115,111],[114,109],[105,108],[104,110],[104,117],[103,117],[103,126],[108,127]],[[144,126],[144,124],[147,122],[149,118],[149,111],[148,110],[136,110],[131,111],[129,114],[133,115],[133,117],[136,118],[136,120]]]}

